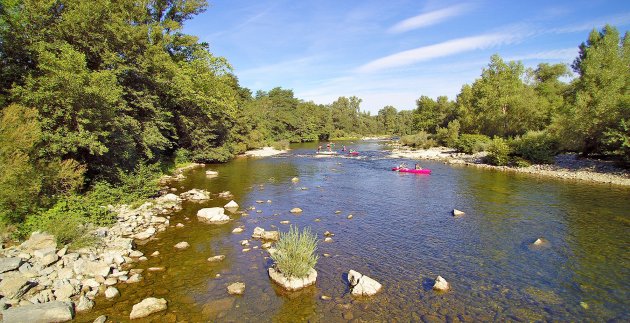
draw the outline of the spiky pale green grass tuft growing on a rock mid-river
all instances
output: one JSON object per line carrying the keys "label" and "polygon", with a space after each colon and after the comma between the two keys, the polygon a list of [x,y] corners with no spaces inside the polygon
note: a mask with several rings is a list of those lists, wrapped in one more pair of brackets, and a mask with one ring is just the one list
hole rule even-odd
{"label": "spiky pale green grass tuft growing on a rock mid-river", "polygon": [[317,236],[311,233],[310,228],[300,233],[297,227],[291,226],[289,232],[280,234],[276,249],[271,258],[276,263],[276,269],[286,277],[306,277],[317,263]]}

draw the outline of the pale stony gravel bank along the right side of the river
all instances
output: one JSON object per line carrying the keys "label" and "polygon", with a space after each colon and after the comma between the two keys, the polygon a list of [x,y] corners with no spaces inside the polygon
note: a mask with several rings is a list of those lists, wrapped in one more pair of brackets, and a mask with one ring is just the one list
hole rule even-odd
{"label": "pale stony gravel bank along the right side of the river", "polygon": [[447,164],[496,169],[506,172],[525,173],[595,183],[630,186],[630,173],[617,167],[613,162],[579,158],[577,154],[561,154],[556,156],[555,163],[549,165],[531,165],[529,167],[493,166],[483,162],[485,152],[477,154],[458,153],[452,148],[433,147],[429,149],[412,150],[397,147],[392,150],[392,158],[438,160]]}

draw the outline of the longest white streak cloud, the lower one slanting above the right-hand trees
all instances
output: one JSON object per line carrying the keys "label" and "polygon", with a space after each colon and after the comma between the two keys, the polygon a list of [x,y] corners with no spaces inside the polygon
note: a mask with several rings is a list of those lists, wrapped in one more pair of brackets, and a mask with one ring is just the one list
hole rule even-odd
{"label": "longest white streak cloud, the lower one slanting above the right-hand trees", "polygon": [[518,38],[517,34],[497,33],[448,40],[439,44],[406,50],[373,60],[360,66],[357,71],[371,73],[393,67],[407,66],[437,57],[511,43]]}

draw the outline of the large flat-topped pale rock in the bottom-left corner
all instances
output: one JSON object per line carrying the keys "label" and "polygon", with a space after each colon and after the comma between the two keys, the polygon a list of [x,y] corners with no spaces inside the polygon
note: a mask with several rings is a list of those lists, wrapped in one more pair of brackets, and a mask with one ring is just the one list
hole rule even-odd
{"label": "large flat-topped pale rock in the bottom-left corner", "polygon": [[74,318],[71,302],[48,302],[13,307],[2,312],[3,322],[66,322]]}

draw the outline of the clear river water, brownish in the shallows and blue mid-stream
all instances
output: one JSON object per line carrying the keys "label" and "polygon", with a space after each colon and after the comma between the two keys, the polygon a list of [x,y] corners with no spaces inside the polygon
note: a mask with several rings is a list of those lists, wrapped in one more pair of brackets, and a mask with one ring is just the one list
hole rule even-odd
{"label": "clear river water, brownish in the shallows and blue mid-stream", "polygon": [[[388,158],[382,143],[345,144],[359,157],[315,156],[316,144],[303,144],[287,155],[186,173],[178,194],[199,188],[214,195],[185,202],[169,230],[139,246],[150,259],[136,268],[166,270],[118,284],[120,297],[100,296],[76,320],[106,314],[127,321],[149,296],[168,301],[167,311],[145,319],[155,322],[630,320],[630,189],[432,161],[421,162],[431,175],[398,173],[390,169],[403,160]],[[207,169],[219,176],[206,177]],[[240,210],[256,209],[231,214],[228,224],[198,222],[197,210],[229,202],[216,195],[226,190]],[[294,207],[303,212],[291,214]],[[453,209],[466,214],[455,218]],[[316,285],[293,293],[270,281],[268,254],[250,238],[256,226],[287,231],[285,220],[321,239]],[[245,231],[233,234],[239,226]],[[323,242],[325,231],[335,234],[332,243]],[[532,248],[540,237],[549,244]],[[191,247],[176,251],[180,241]],[[159,257],[149,256],[156,250]],[[219,254],[223,262],[206,260]],[[379,281],[381,292],[350,295],[350,269]],[[431,290],[438,275],[450,291]],[[246,284],[244,295],[228,295],[237,281]]]}

